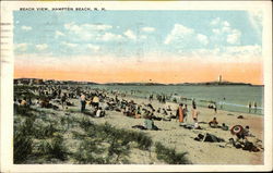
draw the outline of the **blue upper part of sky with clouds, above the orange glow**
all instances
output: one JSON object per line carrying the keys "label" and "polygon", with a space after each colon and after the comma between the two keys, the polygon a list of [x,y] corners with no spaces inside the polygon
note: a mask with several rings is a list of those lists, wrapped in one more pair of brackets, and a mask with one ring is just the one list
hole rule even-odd
{"label": "blue upper part of sky with clouds, above the orange glow", "polygon": [[248,11],[14,12],[15,54],[260,55],[261,34]]}

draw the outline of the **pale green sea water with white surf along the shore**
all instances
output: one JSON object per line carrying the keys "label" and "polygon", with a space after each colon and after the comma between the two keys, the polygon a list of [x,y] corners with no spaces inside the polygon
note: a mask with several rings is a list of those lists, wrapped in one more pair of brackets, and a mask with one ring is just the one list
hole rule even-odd
{"label": "pale green sea water with white surf along the shore", "polygon": [[[210,101],[216,102],[218,110],[263,114],[264,87],[262,86],[136,86],[136,85],[92,85],[92,88],[119,90],[127,95],[147,98],[150,95],[173,96],[178,102],[191,104],[192,99],[197,106],[207,107]],[[155,98],[155,97],[154,97]],[[187,99],[180,99],[187,98]],[[257,102],[257,109],[254,103]],[[251,109],[249,109],[251,103]]]}

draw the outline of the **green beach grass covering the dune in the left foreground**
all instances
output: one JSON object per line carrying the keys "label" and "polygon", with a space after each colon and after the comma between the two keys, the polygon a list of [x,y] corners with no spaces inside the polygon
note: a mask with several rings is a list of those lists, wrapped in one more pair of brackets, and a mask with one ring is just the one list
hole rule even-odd
{"label": "green beach grass covering the dune in the left foreground", "polygon": [[[178,153],[154,147],[144,132],[96,124],[71,109],[69,115],[37,108],[16,107],[14,118],[14,163],[130,164],[132,149],[155,152],[166,163],[183,163]],[[60,113],[60,112],[59,112]],[[71,136],[70,136],[71,134]],[[70,136],[70,137],[68,137]],[[76,144],[74,147],[68,145]],[[153,150],[152,148],[156,148]],[[158,151],[165,149],[164,152]],[[170,159],[170,157],[177,157]],[[169,158],[169,159],[165,159]],[[185,156],[182,156],[185,158]]]}

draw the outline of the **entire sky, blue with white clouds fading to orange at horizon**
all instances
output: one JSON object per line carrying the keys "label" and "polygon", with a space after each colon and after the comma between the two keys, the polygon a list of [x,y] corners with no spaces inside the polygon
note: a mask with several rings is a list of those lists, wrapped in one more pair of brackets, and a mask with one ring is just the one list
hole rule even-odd
{"label": "entire sky, blue with white clouds fading to orange at horizon", "polygon": [[14,77],[263,84],[259,11],[16,11]]}

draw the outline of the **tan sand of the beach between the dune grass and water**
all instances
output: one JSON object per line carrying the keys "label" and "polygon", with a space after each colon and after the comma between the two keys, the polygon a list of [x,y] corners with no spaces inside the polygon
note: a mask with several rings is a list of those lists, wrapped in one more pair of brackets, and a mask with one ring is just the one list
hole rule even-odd
{"label": "tan sand of the beach between the dune grass and water", "polygon": [[[134,100],[135,103],[151,103],[155,109],[166,108],[170,106],[174,114],[178,108],[178,103],[166,102],[159,103],[157,100],[149,101],[147,99],[134,98],[134,97],[123,97],[126,100]],[[132,128],[133,125],[143,125],[144,119],[133,119],[123,115],[121,112],[117,111],[106,111],[106,116],[104,118],[92,118],[90,115],[80,113],[81,109],[79,99],[70,99],[74,103],[74,107],[69,107],[68,109],[51,110],[39,108],[48,113],[56,114],[55,119],[61,119],[62,116],[70,116],[71,119],[90,119],[96,124],[109,123],[117,128],[124,128],[140,132],[141,129]],[[90,106],[86,106],[86,112],[90,111]],[[188,120],[187,123],[193,124],[191,119],[191,106],[188,107]],[[67,113],[69,110],[74,110],[74,112]],[[234,125],[246,125],[250,126],[250,132],[256,137],[249,137],[249,140],[254,140],[259,138],[263,141],[263,116],[248,114],[248,113],[238,113],[238,112],[228,112],[218,110],[217,113],[214,113],[214,110],[207,108],[199,107],[200,111],[199,122],[202,129],[187,129],[179,126],[179,122],[175,119],[171,121],[154,121],[155,125],[162,131],[142,131],[149,136],[152,137],[153,141],[161,141],[169,148],[175,148],[178,152],[188,152],[187,158],[193,164],[263,164],[263,150],[259,152],[250,152],[242,149],[236,149],[233,146],[225,146],[226,143],[205,143],[197,141],[193,138],[198,134],[210,133],[217,137],[228,141],[230,137],[234,137],[229,131],[222,131],[221,128],[212,128],[209,124],[202,122],[210,122],[214,116],[217,119],[218,123],[225,123],[229,128]],[[242,115],[244,119],[237,119],[238,115]],[[58,118],[59,116],[59,118]],[[73,129],[78,131],[78,129]],[[68,133],[67,145],[71,145],[73,148],[73,143],[70,144],[70,135]],[[225,147],[224,147],[225,146]],[[147,159],[149,158],[149,159]],[[164,162],[156,159],[155,156],[149,156],[147,152],[140,152],[139,150],[132,151],[130,153],[131,163],[135,164],[164,164]]]}

